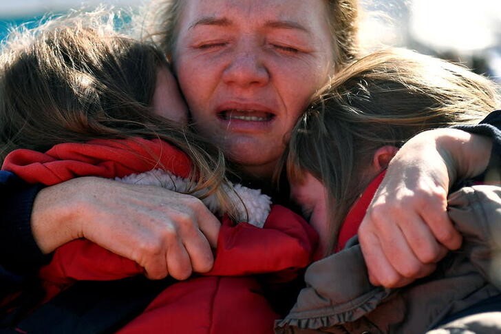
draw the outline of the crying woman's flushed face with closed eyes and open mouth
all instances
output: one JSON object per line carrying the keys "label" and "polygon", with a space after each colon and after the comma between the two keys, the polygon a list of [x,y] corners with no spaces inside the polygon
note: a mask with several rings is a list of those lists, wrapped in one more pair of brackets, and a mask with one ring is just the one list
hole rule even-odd
{"label": "crying woman's flushed face with closed eyes and open mouth", "polygon": [[332,74],[324,9],[321,0],[186,1],[173,63],[195,127],[255,178],[271,176]]}

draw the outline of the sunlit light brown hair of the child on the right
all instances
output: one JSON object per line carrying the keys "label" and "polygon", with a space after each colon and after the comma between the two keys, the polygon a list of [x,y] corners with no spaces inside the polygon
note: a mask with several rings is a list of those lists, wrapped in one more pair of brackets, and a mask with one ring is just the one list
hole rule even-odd
{"label": "sunlit light brown hair of the child on the right", "polygon": [[364,171],[376,149],[399,147],[425,129],[478,123],[498,103],[495,84],[464,67],[407,50],[375,52],[315,96],[293,129],[288,176],[301,182],[308,171],[328,189],[334,247],[345,216],[370,182]]}

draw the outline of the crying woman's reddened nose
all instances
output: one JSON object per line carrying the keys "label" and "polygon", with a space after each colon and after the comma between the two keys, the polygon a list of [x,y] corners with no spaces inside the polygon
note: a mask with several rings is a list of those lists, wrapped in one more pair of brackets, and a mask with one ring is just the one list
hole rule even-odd
{"label": "crying woman's reddened nose", "polygon": [[224,83],[240,87],[266,84],[270,74],[260,52],[257,45],[237,48],[224,69]]}

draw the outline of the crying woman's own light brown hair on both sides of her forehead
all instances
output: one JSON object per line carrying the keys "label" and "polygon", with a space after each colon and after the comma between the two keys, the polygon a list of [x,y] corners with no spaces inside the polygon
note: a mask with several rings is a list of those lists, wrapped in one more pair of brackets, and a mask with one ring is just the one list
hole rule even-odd
{"label": "crying woman's own light brown hair on both sides of her forehead", "polygon": [[[160,48],[168,57],[175,49],[178,36],[178,23],[186,0],[153,0],[149,6],[151,19],[147,25]],[[334,63],[343,65],[352,61],[358,54],[359,1],[323,0],[332,34]],[[338,66],[337,66],[338,67]]]}

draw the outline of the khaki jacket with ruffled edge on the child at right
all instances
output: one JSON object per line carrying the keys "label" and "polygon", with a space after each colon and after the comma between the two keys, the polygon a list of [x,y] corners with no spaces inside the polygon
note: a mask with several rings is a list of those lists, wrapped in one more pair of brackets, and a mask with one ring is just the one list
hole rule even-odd
{"label": "khaki jacket with ruffled edge on the child at right", "polygon": [[424,333],[446,315],[499,295],[501,187],[456,191],[449,196],[449,216],[463,244],[432,275],[401,289],[372,286],[361,249],[351,240],[308,268],[307,287],[275,333]]}

